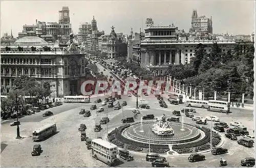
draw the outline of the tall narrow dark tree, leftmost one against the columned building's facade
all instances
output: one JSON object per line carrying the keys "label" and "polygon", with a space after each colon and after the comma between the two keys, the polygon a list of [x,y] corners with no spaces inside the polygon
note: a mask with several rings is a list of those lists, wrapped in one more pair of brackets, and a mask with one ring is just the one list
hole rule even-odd
{"label": "tall narrow dark tree, leftmost one against the columned building's facade", "polygon": [[196,74],[198,73],[199,66],[201,65],[201,62],[205,57],[205,55],[206,55],[206,52],[204,50],[204,45],[202,43],[199,43],[196,47],[196,52],[194,54],[195,57],[191,62],[193,63]]}

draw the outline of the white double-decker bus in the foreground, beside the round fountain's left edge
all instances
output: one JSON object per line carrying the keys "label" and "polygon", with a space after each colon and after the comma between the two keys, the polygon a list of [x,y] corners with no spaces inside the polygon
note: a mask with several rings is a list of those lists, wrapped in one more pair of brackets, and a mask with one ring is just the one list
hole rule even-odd
{"label": "white double-decker bus in the foreground, beside the round fountain's left edge", "polygon": [[92,140],[92,156],[109,166],[115,166],[119,162],[117,158],[118,148],[116,145],[97,138]]}

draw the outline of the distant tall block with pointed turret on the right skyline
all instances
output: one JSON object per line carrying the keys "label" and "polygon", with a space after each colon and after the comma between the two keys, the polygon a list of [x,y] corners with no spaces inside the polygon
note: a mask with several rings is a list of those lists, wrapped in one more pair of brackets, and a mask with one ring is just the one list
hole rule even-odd
{"label": "distant tall block with pointed turret on the right skyline", "polygon": [[196,32],[199,34],[212,34],[212,18],[197,15],[197,10],[193,10],[191,16],[191,29],[189,32]]}

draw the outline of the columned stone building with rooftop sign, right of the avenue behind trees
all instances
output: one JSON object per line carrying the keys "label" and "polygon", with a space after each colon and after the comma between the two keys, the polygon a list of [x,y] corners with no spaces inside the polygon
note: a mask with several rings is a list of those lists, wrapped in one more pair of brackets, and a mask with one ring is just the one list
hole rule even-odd
{"label": "columned stone building with rooftop sign, right of the avenue behind trees", "polygon": [[189,64],[194,57],[196,46],[202,43],[210,52],[214,43],[223,51],[232,49],[234,40],[178,40],[175,25],[146,27],[145,39],[133,46],[133,62],[152,73],[164,74],[170,64]]}

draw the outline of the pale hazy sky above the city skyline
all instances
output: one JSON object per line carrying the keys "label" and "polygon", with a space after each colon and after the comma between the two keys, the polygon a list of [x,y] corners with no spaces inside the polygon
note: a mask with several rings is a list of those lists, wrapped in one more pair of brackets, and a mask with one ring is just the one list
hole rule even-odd
{"label": "pale hazy sky above the city skyline", "polygon": [[24,24],[35,24],[35,20],[58,22],[58,11],[63,6],[70,10],[73,32],[78,32],[81,22],[91,22],[93,15],[98,30],[110,34],[130,34],[145,28],[145,19],[153,18],[155,24],[174,23],[186,32],[191,26],[193,9],[198,16],[212,16],[214,33],[249,35],[255,26],[254,1],[1,1],[1,36],[10,33],[14,37],[22,32]]}

